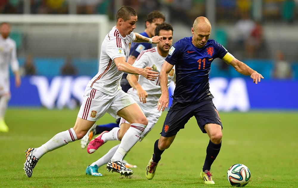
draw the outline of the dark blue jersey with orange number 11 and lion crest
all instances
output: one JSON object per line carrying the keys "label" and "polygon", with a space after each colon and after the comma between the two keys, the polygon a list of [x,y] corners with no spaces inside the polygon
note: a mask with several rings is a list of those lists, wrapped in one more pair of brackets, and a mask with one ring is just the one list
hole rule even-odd
{"label": "dark blue jersey with orange number 11 and lion crest", "polygon": [[192,103],[213,98],[209,91],[209,71],[215,58],[223,58],[227,50],[209,39],[202,48],[195,47],[192,37],[177,41],[170,49],[168,63],[176,67],[176,88],[173,98],[177,102]]}

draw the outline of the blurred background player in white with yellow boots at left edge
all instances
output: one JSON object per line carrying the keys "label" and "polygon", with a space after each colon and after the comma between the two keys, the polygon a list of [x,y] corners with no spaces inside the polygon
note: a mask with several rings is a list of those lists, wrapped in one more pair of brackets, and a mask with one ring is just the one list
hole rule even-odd
{"label": "blurred background player in white with yellow boots at left edge", "polygon": [[4,121],[7,104],[10,99],[9,63],[15,75],[15,86],[21,85],[19,64],[16,53],[16,44],[9,37],[10,24],[3,22],[0,25],[0,132],[8,132]]}

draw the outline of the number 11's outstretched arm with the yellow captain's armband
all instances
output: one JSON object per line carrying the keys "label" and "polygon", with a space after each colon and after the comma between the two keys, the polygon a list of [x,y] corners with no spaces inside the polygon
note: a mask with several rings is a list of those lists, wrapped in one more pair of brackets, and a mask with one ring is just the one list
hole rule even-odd
{"label": "number 11's outstretched arm with the yellow captain's armband", "polygon": [[249,75],[255,84],[261,81],[261,78],[264,78],[260,73],[250,68],[248,65],[236,59],[232,54],[229,52],[224,56],[223,60],[227,63],[232,65],[238,73],[243,75]]}

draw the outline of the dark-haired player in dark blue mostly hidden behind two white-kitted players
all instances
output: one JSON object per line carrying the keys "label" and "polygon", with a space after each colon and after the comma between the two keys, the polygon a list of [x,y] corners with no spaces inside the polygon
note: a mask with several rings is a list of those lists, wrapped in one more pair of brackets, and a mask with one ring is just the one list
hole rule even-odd
{"label": "dark-haired player in dark blue mostly hidden behind two white-kitted players", "polygon": [[[154,30],[156,28],[156,26],[158,26],[159,24],[163,23],[165,21],[165,16],[155,10],[150,12],[145,20],[145,31],[140,33],[142,36],[145,37],[149,37],[152,38],[155,33]],[[139,56],[140,52],[142,50],[147,50],[152,48],[152,44],[150,43],[131,43],[131,48],[130,48],[130,52],[129,52],[129,58],[127,63],[129,64],[134,64],[134,61],[136,60],[136,58]],[[130,84],[128,83],[127,79],[126,79],[127,74],[124,73],[120,82],[120,85],[122,87],[122,90],[127,92],[128,89],[131,88]],[[87,134],[81,139],[81,147],[84,149],[86,148],[87,144],[91,141],[92,137],[94,135],[100,134],[103,131],[110,131],[112,130],[114,127],[119,127],[119,123],[120,123],[120,118],[117,119],[116,123],[109,123],[109,124],[104,124],[104,125],[96,125],[94,124],[94,126],[87,132]],[[133,167],[130,166],[128,163],[126,163],[128,168],[129,167]]]}

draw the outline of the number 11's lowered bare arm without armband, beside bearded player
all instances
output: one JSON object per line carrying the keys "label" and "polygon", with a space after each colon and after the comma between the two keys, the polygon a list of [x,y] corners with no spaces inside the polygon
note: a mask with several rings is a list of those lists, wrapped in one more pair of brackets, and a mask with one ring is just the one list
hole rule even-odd
{"label": "number 11's lowered bare arm without armband, beside bearded player", "polygon": [[172,70],[174,65],[168,63],[167,61],[164,61],[164,64],[162,65],[162,70],[159,73],[159,83],[160,83],[160,90],[162,92],[162,95],[160,95],[157,103],[157,110],[162,112],[165,108],[169,105],[169,91],[167,88],[167,75]]}

